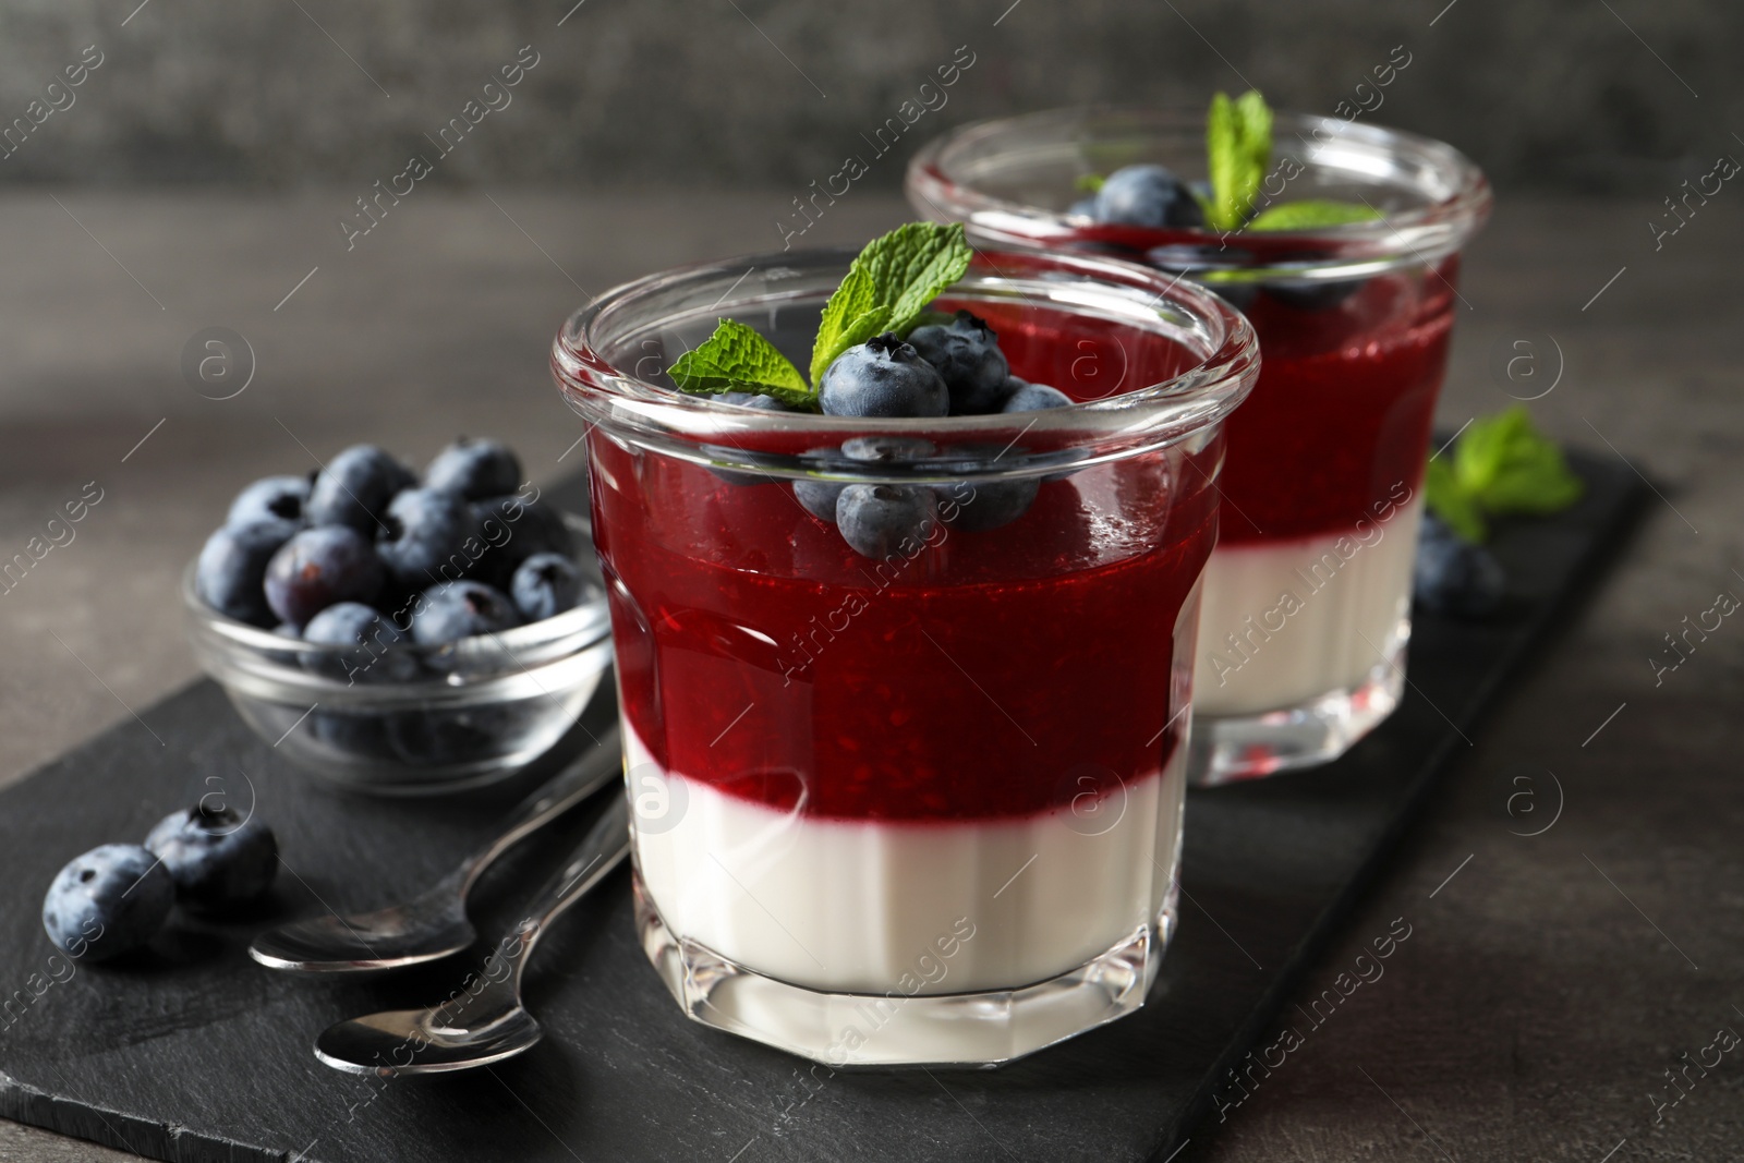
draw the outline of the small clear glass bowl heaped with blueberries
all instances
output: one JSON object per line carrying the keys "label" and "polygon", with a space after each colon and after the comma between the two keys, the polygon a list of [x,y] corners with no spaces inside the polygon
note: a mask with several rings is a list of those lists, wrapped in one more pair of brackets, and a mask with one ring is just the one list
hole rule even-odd
{"label": "small clear glass bowl heaped with blueberries", "polygon": [[351,790],[511,776],[612,661],[588,521],[459,439],[424,476],[373,445],[244,488],[183,575],[194,654],[242,720]]}

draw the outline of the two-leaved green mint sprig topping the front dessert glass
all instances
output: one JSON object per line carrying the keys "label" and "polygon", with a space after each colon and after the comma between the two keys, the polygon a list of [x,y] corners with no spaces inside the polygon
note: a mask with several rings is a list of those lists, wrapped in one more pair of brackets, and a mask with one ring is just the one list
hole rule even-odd
{"label": "two-leaved green mint sprig topping the front dessert glass", "polygon": [[816,411],[823,371],[849,347],[874,335],[907,335],[926,305],[970,269],[963,223],[910,221],[872,239],[823,307],[811,349],[811,384],[774,343],[753,328],[722,319],[668,373],[682,392],[752,392],[792,408]]}

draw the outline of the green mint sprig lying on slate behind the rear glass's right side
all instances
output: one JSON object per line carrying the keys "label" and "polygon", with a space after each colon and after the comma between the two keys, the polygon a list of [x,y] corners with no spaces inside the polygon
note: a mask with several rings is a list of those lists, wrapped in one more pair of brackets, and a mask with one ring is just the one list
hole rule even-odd
{"label": "green mint sprig lying on slate behind the rear glass's right side", "polygon": [[1524,406],[1472,420],[1451,460],[1430,460],[1423,502],[1470,542],[1489,535],[1489,516],[1547,516],[1585,492],[1563,450],[1533,427]]}

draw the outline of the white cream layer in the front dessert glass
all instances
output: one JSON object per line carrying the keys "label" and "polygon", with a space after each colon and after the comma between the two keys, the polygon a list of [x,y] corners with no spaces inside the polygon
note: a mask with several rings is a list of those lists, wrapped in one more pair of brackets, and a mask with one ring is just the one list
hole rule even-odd
{"label": "white cream layer in the front dessert glass", "polygon": [[1027,820],[853,823],[739,800],[624,731],[637,867],[666,926],[757,973],[837,992],[1031,985],[1156,919],[1181,847],[1186,748]]}

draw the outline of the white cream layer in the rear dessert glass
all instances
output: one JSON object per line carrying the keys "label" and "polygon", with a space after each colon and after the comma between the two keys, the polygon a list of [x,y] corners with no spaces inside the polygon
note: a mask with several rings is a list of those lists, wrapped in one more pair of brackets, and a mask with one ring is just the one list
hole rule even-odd
{"label": "white cream layer in the rear dessert glass", "polygon": [[1205,567],[1193,711],[1254,715],[1360,684],[1411,612],[1421,511],[1413,497],[1350,534],[1217,546]]}

